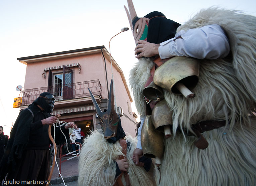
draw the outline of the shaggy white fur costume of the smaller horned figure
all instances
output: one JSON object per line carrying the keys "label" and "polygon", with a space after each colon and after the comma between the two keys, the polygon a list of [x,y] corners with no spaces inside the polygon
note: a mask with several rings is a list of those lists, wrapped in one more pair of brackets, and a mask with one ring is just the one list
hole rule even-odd
{"label": "shaggy white fur costume of the smaller horned figure", "polygon": [[[136,166],[133,163],[133,151],[136,148],[137,139],[130,135],[126,136],[126,140],[131,142],[127,151],[126,158],[129,163],[129,179],[133,186],[149,186],[155,185],[152,165],[151,171],[146,172],[143,167]],[[83,141],[83,146],[79,156],[79,176],[78,185],[95,185],[95,186],[111,186],[115,183],[116,166],[113,160],[123,155],[119,141],[115,144],[108,143],[104,139],[104,135],[98,131],[92,132]],[[125,180],[122,177],[125,185]]]}

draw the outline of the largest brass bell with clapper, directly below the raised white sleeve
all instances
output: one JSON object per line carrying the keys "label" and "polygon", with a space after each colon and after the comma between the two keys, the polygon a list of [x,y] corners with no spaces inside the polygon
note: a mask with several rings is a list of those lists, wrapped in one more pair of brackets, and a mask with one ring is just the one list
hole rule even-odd
{"label": "largest brass bell with clapper, directly below the raised white sleeve", "polygon": [[194,98],[191,92],[199,76],[199,62],[197,59],[185,56],[175,56],[159,66],[154,74],[154,83],[174,94],[181,94],[185,98]]}

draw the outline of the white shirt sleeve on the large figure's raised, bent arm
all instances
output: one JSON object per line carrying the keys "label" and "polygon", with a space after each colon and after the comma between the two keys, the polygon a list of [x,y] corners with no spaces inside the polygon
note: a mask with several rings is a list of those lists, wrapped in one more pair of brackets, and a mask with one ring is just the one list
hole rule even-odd
{"label": "white shirt sleeve on the large figure's raised, bent arm", "polygon": [[229,40],[222,27],[217,24],[181,30],[174,38],[160,43],[158,48],[161,59],[172,56],[217,59],[226,57],[229,51]]}

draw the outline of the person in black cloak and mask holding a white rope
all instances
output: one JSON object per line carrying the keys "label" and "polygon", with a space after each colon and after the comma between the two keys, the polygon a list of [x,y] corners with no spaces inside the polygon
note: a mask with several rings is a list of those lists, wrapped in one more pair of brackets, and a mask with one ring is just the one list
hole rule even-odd
{"label": "person in black cloak and mask holding a white rope", "polygon": [[[17,181],[21,184],[21,181],[38,180],[45,183],[48,179],[50,173],[48,128],[49,125],[57,122],[57,118],[50,114],[53,112],[54,102],[54,95],[43,92],[27,109],[20,112],[0,163],[1,181],[16,180],[16,184]],[[73,126],[72,123],[61,129],[64,129],[62,131],[68,136],[67,129]],[[58,133],[57,128],[56,131]]]}

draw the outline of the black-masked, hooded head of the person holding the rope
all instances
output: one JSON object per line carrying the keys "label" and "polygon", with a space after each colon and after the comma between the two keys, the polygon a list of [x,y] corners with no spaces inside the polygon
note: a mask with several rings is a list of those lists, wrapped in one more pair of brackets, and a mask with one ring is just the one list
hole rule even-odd
{"label": "black-masked, hooded head of the person holding the rope", "polygon": [[55,98],[51,93],[43,92],[33,103],[42,107],[45,112],[51,113],[53,112]]}

